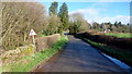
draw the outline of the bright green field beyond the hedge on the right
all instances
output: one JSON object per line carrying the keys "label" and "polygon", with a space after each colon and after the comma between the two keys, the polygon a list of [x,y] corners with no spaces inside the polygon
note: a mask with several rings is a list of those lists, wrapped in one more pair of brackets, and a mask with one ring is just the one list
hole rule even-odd
{"label": "bright green field beyond the hedge on the right", "polygon": [[107,36],[114,36],[114,37],[119,37],[119,38],[132,38],[132,34],[113,34],[113,33],[108,33],[108,34],[106,34]]}

